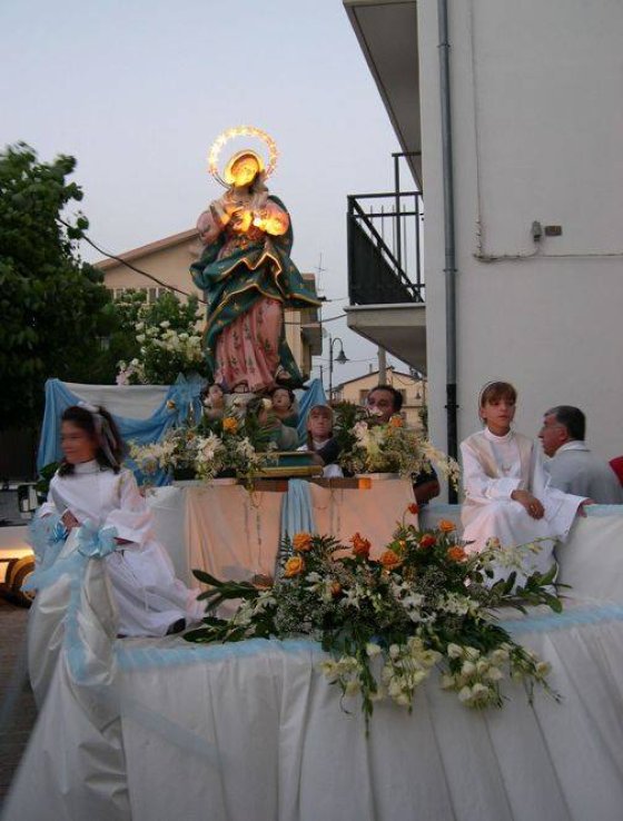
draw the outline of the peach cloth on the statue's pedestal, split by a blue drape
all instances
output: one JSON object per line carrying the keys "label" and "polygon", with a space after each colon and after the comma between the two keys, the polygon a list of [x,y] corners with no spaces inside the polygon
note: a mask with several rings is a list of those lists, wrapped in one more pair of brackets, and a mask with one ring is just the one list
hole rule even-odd
{"label": "peach cloth on the statue's pedestal, split by a blue drape", "polygon": [[[409,482],[372,482],[368,489],[329,489],[309,485],[318,533],[348,542],[355,532],[375,552],[390,541],[397,521],[413,502]],[[155,531],[186,584],[191,571],[218,578],[273,575],[279,547],[284,493],[255,492],[241,485],[160,487],[148,495]],[[409,516],[409,521],[416,521]],[[373,553],[374,555],[374,553]]]}

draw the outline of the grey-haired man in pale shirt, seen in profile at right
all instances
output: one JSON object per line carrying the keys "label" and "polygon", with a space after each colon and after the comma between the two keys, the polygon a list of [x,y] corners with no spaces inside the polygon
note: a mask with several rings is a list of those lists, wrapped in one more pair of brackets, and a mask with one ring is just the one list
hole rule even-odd
{"label": "grey-haired man in pale shirt, seen in profile at right", "polygon": [[623,504],[614,471],[586,447],[585,432],[586,418],[577,407],[558,405],[545,413],[538,438],[552,457],[546,466],[551,486],[602,505]]}

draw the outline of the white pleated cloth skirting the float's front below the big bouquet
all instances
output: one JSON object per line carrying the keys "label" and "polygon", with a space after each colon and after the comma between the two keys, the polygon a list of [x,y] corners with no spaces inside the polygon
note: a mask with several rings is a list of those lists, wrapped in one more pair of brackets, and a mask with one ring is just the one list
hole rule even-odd
{"label": "white pleated cloth skirting the float's front below the big bouquet", "polygon": [[540,693],[531,706],[517,685],[502,711],[478,713],[431,682],[411,716],[377,705],[367,739],[358,701],[346,714],[318,672],[317,645],[180,649],[170,666],[128,647],[132,819],[619,821],[623,622],[522,640],[552,662],[562,704]]}

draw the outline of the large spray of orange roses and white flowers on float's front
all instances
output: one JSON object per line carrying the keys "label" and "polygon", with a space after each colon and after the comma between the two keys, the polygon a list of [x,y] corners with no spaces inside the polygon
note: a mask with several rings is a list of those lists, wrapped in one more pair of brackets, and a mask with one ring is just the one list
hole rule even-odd
{"label": "large spray of orange roses and white flowers on float's front", "polygon": [[[503,705],[503,686],[523,681],[528,698],[535,684],[550,689],[548,664],[517,644],[492,611],[513,605],[561,603],[547,591],[553,574],[531,576],[515,590],[516,574],[491,583],[501,556],[521,566],[522,548],[492,545],[468,555],[454,524],[435,530],[398,525],[378,558],[356,533],[347,547],[333,537],[298,533],[285,543],[281,572],[270,587],[221,582],[195,571],[209,585],[205,626],[185,634],[192,642],[309,635],[330,653],[322,669],[343,699],[360,694],[366,722],[374,702],[390,699],[412,709],[417,688],[438,669],[444,690],[471,708]],[[289,556],[287,553],[289,552]],[[487,584],[488,581],[488,584]],[[211,613],[225,600],[243,600],[229,620]]]}

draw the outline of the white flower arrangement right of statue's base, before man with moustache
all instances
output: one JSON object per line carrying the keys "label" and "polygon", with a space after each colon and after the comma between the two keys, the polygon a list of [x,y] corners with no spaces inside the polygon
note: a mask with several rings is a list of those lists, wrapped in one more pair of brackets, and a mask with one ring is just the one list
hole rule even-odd
{"label": "white flower arrangement right of statue's base, before man with moustache", "polygon": [[402,416],[383,424],[367,409],[343,403],[337,409],[335,436],[340,445],[339,465],[350,474],[397,473],[408,478],[431,469],[458,484],[458,464],[427,439],[405,426]]}

